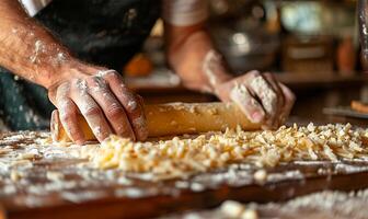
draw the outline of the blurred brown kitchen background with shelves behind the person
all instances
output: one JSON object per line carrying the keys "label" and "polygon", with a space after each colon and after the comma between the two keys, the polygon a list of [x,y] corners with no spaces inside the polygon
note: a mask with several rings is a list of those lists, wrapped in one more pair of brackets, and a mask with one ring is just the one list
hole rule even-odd
{"label": "blurred brown kitchen background with shelves behind the person", "polygon": [[[365,125],[331,115],[353,100],[368,102],[356,14],[356,0],[210,0],[208,30],[234,74],[272,71],[292,89],[298,100],[290,122]],[[216,100],[181,85],[166,66],[162,36],[158,21],[142,53],[123,69],[129,87],[148,103]]]}

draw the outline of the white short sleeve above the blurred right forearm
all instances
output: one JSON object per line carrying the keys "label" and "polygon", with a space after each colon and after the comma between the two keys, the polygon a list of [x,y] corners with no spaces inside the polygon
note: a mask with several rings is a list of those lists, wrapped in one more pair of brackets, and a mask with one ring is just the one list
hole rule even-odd
{"label": "white short sleeve above the blurred right forearm", "polygon": [[208,18],[207,0],[163,0],[165,22],[176,26],[188,26]]}

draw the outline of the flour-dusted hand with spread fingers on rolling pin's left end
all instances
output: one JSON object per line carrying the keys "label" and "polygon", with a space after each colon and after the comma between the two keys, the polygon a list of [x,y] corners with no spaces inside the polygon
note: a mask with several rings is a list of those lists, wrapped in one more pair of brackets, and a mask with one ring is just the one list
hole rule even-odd
{"label": "flour-dusted hand with spread fingers on rolling pin's left end", "polygon": [[76,143],[85,142],[78,114],[83,115],[99,141],[111,134],[133,140],[147,138],[142,100],[126,88],[116,71],[77,65],[64,72],[62,80],[48,89],[48,95]]}

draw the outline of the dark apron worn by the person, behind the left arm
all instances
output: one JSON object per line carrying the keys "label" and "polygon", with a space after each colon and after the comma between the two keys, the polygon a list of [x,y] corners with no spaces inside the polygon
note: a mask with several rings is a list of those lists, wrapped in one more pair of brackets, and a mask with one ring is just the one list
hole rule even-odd
{"label": "dark apron worn by the person, behind the left arm", "polygon": [[[120,71],[160,15],[159,0],[54,0],[36,19],[80,59]],[[0,69],[1,118],[13,130],[47,129],[45,89]]]}

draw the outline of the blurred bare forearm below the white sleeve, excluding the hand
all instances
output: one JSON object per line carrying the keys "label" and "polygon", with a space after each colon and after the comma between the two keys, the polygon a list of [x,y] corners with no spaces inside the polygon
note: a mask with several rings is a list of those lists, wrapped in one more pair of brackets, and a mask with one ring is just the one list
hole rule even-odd
{"label": "blurred bare forearm below the white sleeve, excluding the hand", "polygon": [[217,84],[232,78],[203,24],[165,30],[169,62],[186,88],[216,93]]}

